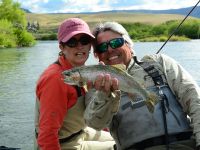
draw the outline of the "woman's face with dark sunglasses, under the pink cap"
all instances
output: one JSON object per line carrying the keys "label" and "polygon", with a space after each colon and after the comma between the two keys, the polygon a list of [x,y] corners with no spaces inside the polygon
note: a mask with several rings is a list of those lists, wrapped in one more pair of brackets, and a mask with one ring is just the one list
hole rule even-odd
{"label": "woman's face with dark sunglasses, under the pink cap", "polygon": [[72,66],[82,66],[89,57],[91,49],[91,37],[81,33],[73,36],[60,49]]}

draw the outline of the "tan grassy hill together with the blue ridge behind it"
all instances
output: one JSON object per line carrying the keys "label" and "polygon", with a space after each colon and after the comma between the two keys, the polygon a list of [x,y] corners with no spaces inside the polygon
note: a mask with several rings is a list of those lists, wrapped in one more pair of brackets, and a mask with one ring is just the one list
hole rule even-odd
{"label": "tan grassy hill together with the blue ridge behind it", "polygon": [[[120,23],[145,23],[145,24],[161,24],[170,20],[182,20],[192,7],[169,10],[111,10],[101,12],[84,12],[84,13],[31,13],[26,11],[27,20],[39,22],[41,28],[57,30],[59,24],[66,18],[78,17],[89,23],[92,27],[98,22],[117,21]],[[200,6],[196,7],[188,19],[200,18]],[[187,19],[187,20],[188,20]]]}

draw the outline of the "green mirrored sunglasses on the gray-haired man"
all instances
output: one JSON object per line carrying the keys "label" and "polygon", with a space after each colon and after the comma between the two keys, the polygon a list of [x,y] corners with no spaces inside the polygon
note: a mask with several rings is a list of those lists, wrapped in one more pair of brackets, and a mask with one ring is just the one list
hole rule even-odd
{"label": "green mirrored sunglasses on the gray-haired man", "polygon": [[123,38],[115,38],[108,42],[103,42],[101,44],[98,44],[96,47],[97,53],[105,53],[108,50],[108,46],[110,46],[112,49],[116,49],[124,45],[124,39]]}

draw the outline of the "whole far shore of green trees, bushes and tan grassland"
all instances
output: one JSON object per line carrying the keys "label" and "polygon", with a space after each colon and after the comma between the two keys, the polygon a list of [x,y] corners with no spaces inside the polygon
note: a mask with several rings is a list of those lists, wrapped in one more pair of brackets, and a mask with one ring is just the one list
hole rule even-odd
{"label": "whole far shore of green trees, bushes and tan grassland", "polygon": [[[8,9],[9,8],[9,9]],[[129,32],[133,41],[166,41],[185,16],[175,14],[92,13],[92,14],[34,14],[20,9],[12,0],[0,4],[0,48],[26,47],[37,40],[57,40],[59,24],[67,18],[85,20],[91,30],[105,21],[117,21]],[[200,19],[188,17],[170,41],[200,39]]]}

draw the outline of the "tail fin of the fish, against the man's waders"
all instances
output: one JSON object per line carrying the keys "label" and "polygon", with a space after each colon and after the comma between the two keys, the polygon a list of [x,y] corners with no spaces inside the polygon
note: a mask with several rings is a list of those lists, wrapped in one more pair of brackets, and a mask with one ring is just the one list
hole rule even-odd
{"label": "tail fin of the fish, against the man's waders", "polygon": [[145,101],[145,104],[149,110],[149,112],[153,113],[155,105],[158,103],[159,97],[155,93],[149,93],[149,96],[147,100]]}

